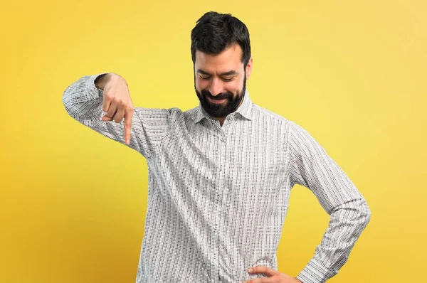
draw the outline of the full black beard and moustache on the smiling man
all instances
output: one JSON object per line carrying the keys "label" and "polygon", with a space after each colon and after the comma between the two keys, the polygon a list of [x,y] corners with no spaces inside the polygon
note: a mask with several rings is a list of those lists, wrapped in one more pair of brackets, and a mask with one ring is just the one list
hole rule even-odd
{"label": "full black beard and moustache on the smiling man", "polygon": [[[237,91],[237,95],[234,96],[233,92],[221,92],[220,94],[213,96],[209,90],[201,90],[199,92],[196,89],[196,80],[194,80],[194,90],[196,90],[197,97],[199,98],[200,105],[203,109],[211,116],[211,117],[226,117],[228,114],[235,112],[238,106],[241,104],[243,97],[246,92],[246,72],[245,78],[243,80],[243,88],[239,92]],[[225,102],[221,104],[214,104],[208,100],[208,97],[211,100],[223,100],[226,99]]]}

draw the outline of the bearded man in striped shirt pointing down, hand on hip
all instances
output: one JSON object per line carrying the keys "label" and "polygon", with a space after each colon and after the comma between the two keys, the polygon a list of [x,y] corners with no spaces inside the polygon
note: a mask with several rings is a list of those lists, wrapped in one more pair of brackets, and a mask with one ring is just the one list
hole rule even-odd
{"label": "bearded man in striped shirt pointing down, hand on hip", "polygon": [[[305,129],[251,102],[251,45],[238,18],[204,14],[191,55],[200,105],[185,112],[134,107],[115,73],[84,76],[63,93],[71,117],[147,159],[136,282],[330,279],[369,222],[364,197]],[[290,277],[277,270],[276,250],[296,183],[331,221],[314,257]]]}

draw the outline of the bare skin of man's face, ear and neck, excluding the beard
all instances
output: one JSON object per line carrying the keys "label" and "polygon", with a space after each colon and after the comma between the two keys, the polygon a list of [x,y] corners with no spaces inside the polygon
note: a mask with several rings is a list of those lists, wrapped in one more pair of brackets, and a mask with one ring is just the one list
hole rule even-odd
{"label": "bare skin of man's face, ear and neck, excluding the beard", "polygon": [[[196,90],[208,90],[213,97],[225,92],[231,92],[236,97],[243,90],[243,80],[251,78],[252,57],[249,59],[246,68],[241,61],[242,49],[238,44],[223,50],[218,55],[209,55],[196,50],[196,62],[194,63],[194,85]],[[214,103],[214,100],[208,100]],[[226,105],[228,101],[221,100],[221,105]],[[241,104],[241,103],[240,103]],[[240,105],[239,104],[239,105]],[[223,124],[226,117],[212,117]]]}

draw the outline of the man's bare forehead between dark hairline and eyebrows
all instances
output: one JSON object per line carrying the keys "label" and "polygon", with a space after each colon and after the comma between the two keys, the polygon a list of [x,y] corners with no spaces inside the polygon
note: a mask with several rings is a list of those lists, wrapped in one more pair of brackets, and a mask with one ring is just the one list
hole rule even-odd
{"label": "man's bare forehead between dark hairline and eyebrows", "polygon": [[196,62],[194,67],[196,70],[201,68],[206,71],[227,71],[227,70],[239,70],[243,65],[242,61],[242,49],[238,44],[223,50],[217,55],[209,55],[196,50]]}

